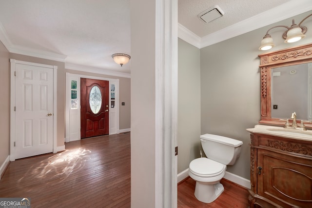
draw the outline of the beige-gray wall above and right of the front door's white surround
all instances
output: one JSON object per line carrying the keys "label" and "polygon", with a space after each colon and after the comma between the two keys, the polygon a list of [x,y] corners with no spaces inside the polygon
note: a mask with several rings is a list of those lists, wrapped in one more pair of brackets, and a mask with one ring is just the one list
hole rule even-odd
{"label": "beige-gray wall above and right of the front door's white surround", "polygon": [[[119,80],[119,129],[128,129],[131,127],[130,126],[130,120],[131,120],[130,78],[95,74],[95,73],[77,71],[77,70],[71,70],[71,69],[66,69],[66,72],[71,73],[71,74],[81,74],[81,75],[86,75],[86,76],[118,79]],[[124,102],[125,105],[121,105],[122,102]]]}

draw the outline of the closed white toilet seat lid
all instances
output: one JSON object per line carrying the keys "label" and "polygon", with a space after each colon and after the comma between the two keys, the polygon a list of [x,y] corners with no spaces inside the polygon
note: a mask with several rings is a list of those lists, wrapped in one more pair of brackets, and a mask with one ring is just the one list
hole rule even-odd
{"label": "closed white toilet seat lid", "polygon": [[189,170],[199,177],[214,177],[222,174],[226,166],[209,158],[201,157],[190,163]]}

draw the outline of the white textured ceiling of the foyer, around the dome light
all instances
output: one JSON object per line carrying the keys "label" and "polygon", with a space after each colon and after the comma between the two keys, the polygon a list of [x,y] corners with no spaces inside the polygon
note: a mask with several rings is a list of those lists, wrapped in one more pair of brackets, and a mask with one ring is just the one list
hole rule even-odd
{"label": "white textured ceiling of the foyer, around the dome light", "polygon": [[13,47],[130,73],[111,57],[131,55],[129,0],[0,0],[0,22]]}

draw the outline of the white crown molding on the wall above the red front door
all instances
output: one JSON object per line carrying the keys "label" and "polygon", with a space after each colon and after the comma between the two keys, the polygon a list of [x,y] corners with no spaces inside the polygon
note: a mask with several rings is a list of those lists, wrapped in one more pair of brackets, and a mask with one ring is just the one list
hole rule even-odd
{"label": "white crown molding on the wall above the red front door", "polygon": [[69,63],[69,62],[65,62],[65,69],[72,69],[76,71],[84,71],[84,72],[109,75],[109,76],[115,76],[115,77],[131,78],[130,73],[117,72],[117,71],[102,69],[98,67],[79,65],[76,63]]}

